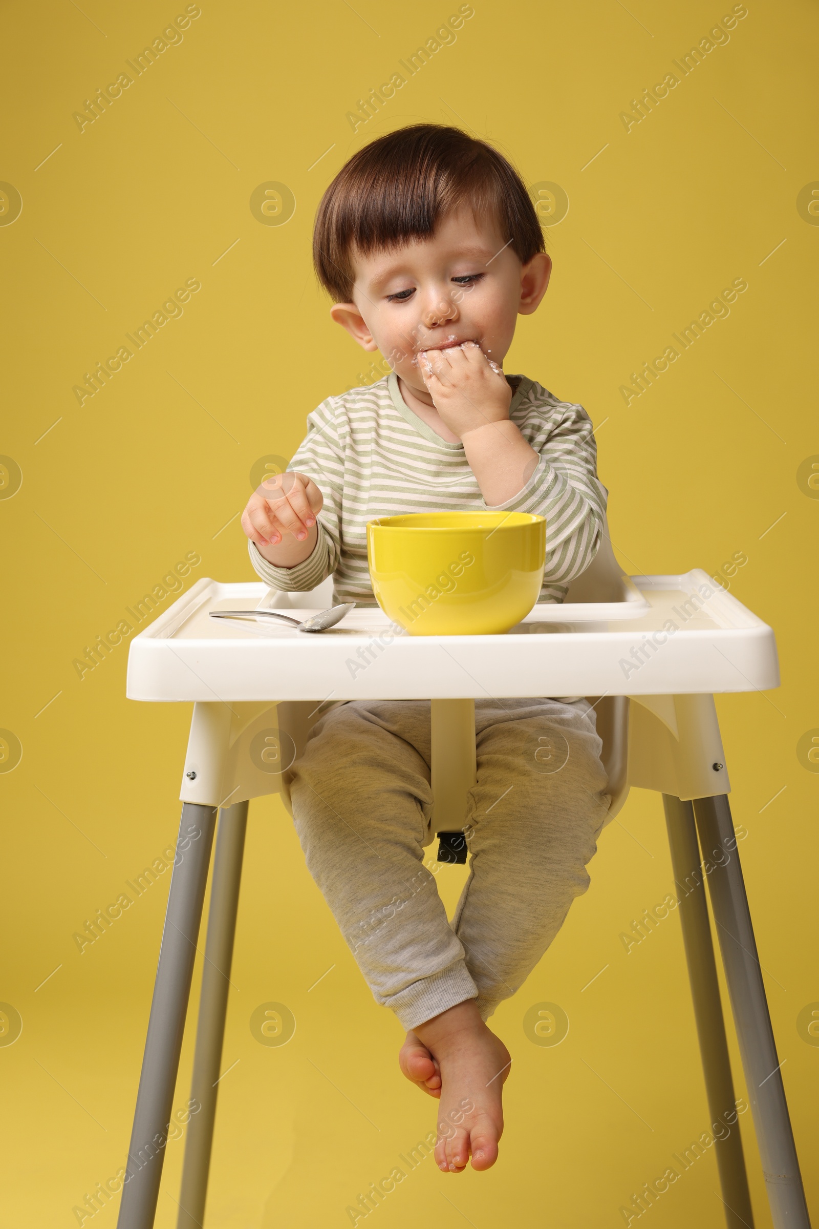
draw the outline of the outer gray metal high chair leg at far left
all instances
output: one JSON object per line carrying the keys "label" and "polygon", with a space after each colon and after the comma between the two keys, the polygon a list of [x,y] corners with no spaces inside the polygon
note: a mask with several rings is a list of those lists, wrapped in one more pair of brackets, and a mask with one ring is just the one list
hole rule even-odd
{"label": "outer gray metal high chair leg at far left", "polygon": [[179,1069],[216,807],[182,807],[118,1229],[151,1229]]}

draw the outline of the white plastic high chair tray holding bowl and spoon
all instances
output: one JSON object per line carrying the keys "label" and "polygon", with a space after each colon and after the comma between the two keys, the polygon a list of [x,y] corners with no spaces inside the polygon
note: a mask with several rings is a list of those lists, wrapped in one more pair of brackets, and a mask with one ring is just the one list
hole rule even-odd
{"label": "white plastic high chair tray holding bowl and spoon", "polygon": [[[637,600],[535,606],[501,635],[409,635],[381,608],[327,632],[211,619],[270,606],[262,583],[203,578],[134,638],[126,694],[140,701],[658,696],[778,686],[774,632],[699,568],[632,576]],[[707,597],[706,594],[711,592]],[[616,605],[616,618],[611,606]],[[313,608],[287,610],[295,618]]]}

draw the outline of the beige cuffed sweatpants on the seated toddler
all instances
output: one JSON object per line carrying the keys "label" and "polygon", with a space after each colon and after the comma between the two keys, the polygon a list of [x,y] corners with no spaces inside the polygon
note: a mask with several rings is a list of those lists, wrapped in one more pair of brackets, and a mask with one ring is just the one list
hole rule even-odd
{"label": "beige cuffed sweatpants on the seated toddler", "polygon": [[514,994],[586,891],[607,816],[587,701],[475,701],[469,878],[452,922],[422,865],[430,702],[349,701],[291,768],[307,866],[378,1003],[405,1029],[464,999],[486,1020]]}

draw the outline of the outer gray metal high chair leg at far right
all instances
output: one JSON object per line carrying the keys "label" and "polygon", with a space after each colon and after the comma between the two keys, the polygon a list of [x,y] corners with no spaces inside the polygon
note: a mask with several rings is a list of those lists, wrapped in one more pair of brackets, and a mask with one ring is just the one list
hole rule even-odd
{"label": "outer gray metal high chair leg at far right", "polygon": [[707,875],[711,908],[720,935],[771,1218],[775,1229],[810,1229],[728,799],[724,794],[695,799],[694,815],[704,858],[710,859],[713,866]]}

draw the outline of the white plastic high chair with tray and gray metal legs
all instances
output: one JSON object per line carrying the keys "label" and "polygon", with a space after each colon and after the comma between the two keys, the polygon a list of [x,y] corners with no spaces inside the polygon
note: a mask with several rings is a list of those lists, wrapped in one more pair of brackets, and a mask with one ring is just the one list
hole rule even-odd
{"label": "white plastic high chair with tray and gray metal legs", "polygon": [[[217,810],[190,1089],[201,1110],[188,1123],[178,1229],[205,1223],[248,799],[281,793],[290,811],[289,769],[327,701],[431,696],[433,828],[440,853],[456,860],[464,853],[465,791],[475,780],[474,697],[546,693],[589,693],[609,778],[607,823],[631,785],[663,795],[705,1088],[717,1123],[734,1106],[734,1086],[708,881],[774,1227],[809,1229],[712,694],[777,686],[776,648],[771,629],[750,611],[722,591],[704,599],[704,586],[713,587],[700,570],[626,576],[607,526],[565,605],[537,606],[503,637],[389,639],[389,622],[372,610],[352,611],[333,629],[340,635],[300,635],[284,624],[259,632],[208,618],[214,608],[247,608],[248,599],[306,614],[332,605],[329,578],[309,594],[275,595],[262,584],[203,579],[134,639],[129,697],[193,699],[194,715],[179,830],[187,844],[179,846],[185,852],[171,882],[118,1229],[153,1224]],[[683,623],[663,640],[669,610]],[[350,654],[368,645],[367,669],[351,681],[349,661],[363,659]],[[748,1229],[754,1219],[739,1131],[717,1141],[715,1152],[728,1229]]]}

